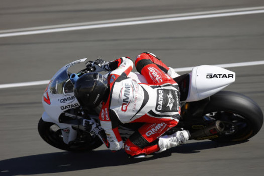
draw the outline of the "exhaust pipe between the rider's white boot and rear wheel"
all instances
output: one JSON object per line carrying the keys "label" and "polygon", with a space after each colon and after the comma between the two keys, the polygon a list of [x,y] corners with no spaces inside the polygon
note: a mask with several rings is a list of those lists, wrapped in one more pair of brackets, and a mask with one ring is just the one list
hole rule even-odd
{"label": "exhaust pipe between the rider's white boot and rear wheel", "polygon": [[224,129],[225,129],[225,124],[222,121],[218,120],[212,125],[209,125],[201,130],[191,133],[190,139],[199,140],[200,138],[204,139],[207,136],[215,136],[218,133],[223,132]]}

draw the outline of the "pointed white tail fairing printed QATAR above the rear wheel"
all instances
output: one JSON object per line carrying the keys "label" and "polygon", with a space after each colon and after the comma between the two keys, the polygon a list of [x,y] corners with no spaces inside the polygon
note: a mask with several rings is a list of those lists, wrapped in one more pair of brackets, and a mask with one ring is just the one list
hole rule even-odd
{"label": "pointed white tail fairing printed QATAR above the rear wheel", "polygon": [[235,73],[227,69],[211,65],[194,67],[190,73],[189,94],[185,102],[205,99],[234,81]]}

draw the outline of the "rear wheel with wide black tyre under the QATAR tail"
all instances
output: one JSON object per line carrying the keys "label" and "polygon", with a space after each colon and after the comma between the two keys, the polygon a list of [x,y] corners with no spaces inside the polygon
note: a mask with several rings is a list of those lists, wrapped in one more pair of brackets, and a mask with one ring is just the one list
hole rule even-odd
{"label": "rear wheel with wide black tyre under the QATAR tail", "polygon": [[245,141],[253,137],[261,128],[263,114],[259,106],[250,98],[221,91],[210,98],[204,110],[205,118],[224,122],[225,129],[217,142]]}

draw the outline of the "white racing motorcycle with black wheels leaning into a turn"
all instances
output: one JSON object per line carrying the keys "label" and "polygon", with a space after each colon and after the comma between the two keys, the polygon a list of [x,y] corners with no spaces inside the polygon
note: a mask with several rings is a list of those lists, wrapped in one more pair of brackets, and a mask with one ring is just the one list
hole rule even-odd
{"label": "white racing motorcycle with black wheels leaning into a turn", "polygon": [[[44,141],[62,150],[89,151],[103,144],[104,135],[87,132],[82,125],[84,118],[99,123],[101,108],[84,110],[73,93],[74,80],[93,71],[93,68],[85,67],[77,74],[71,73],[69,68],[81,63],[84,65],[85,60],[73,61],[58,70],[42,97],[45,112],[39,120],[38,132]],[[135,72],[131,72],[128,77],[138,83],[147,82]],[[260,130],[263,114],[259,106],[242,94],[221,91],[235,81],[234,72],[217,66],[201,65],[174,80],[181,92],[181,119],[177,126],[165,134],[184,129],[189,130],[190,139],[194,140],[241,142]],[[123,141],[142,125],[120,123],[119,132]],[[151,132],[158,129],[159,125],[156,125]]]}

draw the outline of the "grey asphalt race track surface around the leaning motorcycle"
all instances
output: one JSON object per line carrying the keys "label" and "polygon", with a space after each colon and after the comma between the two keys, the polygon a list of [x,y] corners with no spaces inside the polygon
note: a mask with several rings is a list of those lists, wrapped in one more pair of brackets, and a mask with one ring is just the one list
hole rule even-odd
{"label": "grey asphalt race track surface around the leaning motorcycle", "polygon": [[[2,1],[0,30],[261,7],[263,1]],[[152,52],[174,68],[264,60],[264,14],[0,38],[0,84],[47,80],[64,64]],[[264,110],[264,66],[232,67],[225,90]],[[181,72],[184,73],[184,72]],[[38,135],[46,85],[0,89],[0,175],[263,175],[264,131],[241,144],[189,141],[131,160],[102,146],[87,153],[53,148]]]}

